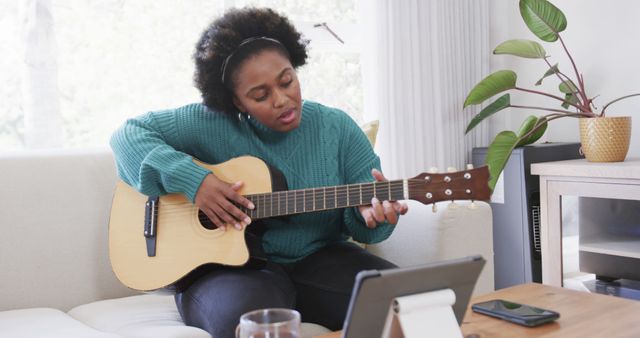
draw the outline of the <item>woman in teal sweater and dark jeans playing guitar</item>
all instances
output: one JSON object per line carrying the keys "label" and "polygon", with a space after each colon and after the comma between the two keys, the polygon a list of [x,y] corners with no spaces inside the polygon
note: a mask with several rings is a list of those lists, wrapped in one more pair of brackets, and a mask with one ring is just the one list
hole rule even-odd
{"label": "woman in teal sweater and dark jeans playing guitar", "polygon": [[[252,155],[277,167],[289,189],[384,180],[366,136],[344,112],[303,101],[296,68],[306,44],[270,9],[231,10],[202,34],[194,55],[202,104],[129,120],[112,138],[120,177],[146,195],[182,193],[215,225],[237,231],[251,223],[238,194],[193,162]],[[243,313],[295,308],[330,329],[344,321],[355,275],[394,265],[347,242],[386,239],[403,203],[372,200],[358,208],[267,219],[264,268],[209,269],[176,293],[187,325],[233,337]]]}

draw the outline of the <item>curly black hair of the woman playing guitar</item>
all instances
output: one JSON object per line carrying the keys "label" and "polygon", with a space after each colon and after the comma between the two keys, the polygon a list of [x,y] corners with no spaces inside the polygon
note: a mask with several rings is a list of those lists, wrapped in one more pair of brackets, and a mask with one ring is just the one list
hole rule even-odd
{"label": "curly black hair of the woman playing guitar", "polygon": [[[246,39],[265,37],[280,43],[247,44],[240,54],[235,53]],[[231,9],[205,29],[193,55],[196,64],[194,81],[202,94],[205,106],[213,111],[237,114],[233,104],[233,81],[222,79],[222,65],[234,53],[233,62],[225,65],[225,79],[244,60],[266,49],[276,50],[289,58],[298,68],[306,63],[307,43],[289,20],[269,8]],[[226,83],[226,85],[225,85]]]}

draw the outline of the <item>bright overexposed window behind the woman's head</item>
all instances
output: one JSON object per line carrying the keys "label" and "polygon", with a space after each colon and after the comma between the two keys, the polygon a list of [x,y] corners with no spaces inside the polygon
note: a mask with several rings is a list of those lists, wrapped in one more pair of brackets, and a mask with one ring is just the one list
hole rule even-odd
{"label": "bright overexposed window behind the woman's head", "polygon": [[[0,74],[8,83],[0,86],[0,149],[24,148],[30,137],[25,114],[38,114],[37,107],[26,112],[23,98],[28,93],[22,85],[27,67],[22,50],[29,42],[22,31],[41,24],[36,19],[42,12],[25,12],[20,8],[25,3],[39,3],[53,19],[50,53],[62,130],[46,132],[64,135],[55,146],[103,146],[129,117],[200,101],[192,80],[194,45],[226,8],[244,5],[268,6],[289,16],[312,40],[308,64],[300,69],[303,97],[341,108],[362,122],[355,0],[10,0],[0,2]],[[31,22],[21,24],[25,17]],[[346,43],[314,27],[321,22]]]}

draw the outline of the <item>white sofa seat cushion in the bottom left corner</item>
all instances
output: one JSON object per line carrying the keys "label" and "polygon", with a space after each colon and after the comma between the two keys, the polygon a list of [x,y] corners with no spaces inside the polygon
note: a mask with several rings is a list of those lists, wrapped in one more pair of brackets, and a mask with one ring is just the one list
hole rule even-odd
{"label": "white sofa seat cushion in the bottom left corner", "polygon": [[20,338],[121,338],[95,330],[66,313],[49,308],[0,312],[0,336]]}

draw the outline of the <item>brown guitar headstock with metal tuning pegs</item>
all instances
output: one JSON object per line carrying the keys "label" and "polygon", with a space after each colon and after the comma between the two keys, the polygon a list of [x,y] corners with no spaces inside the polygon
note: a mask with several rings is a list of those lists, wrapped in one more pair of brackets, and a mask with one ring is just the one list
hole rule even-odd
{"label": "brown guitar headstock with metal tuning pegs", "polygon": [[409,198],[424,204],[453,200],[487,201],[489,167],[449,172],[443,174],[422,173],[409,179]]}

